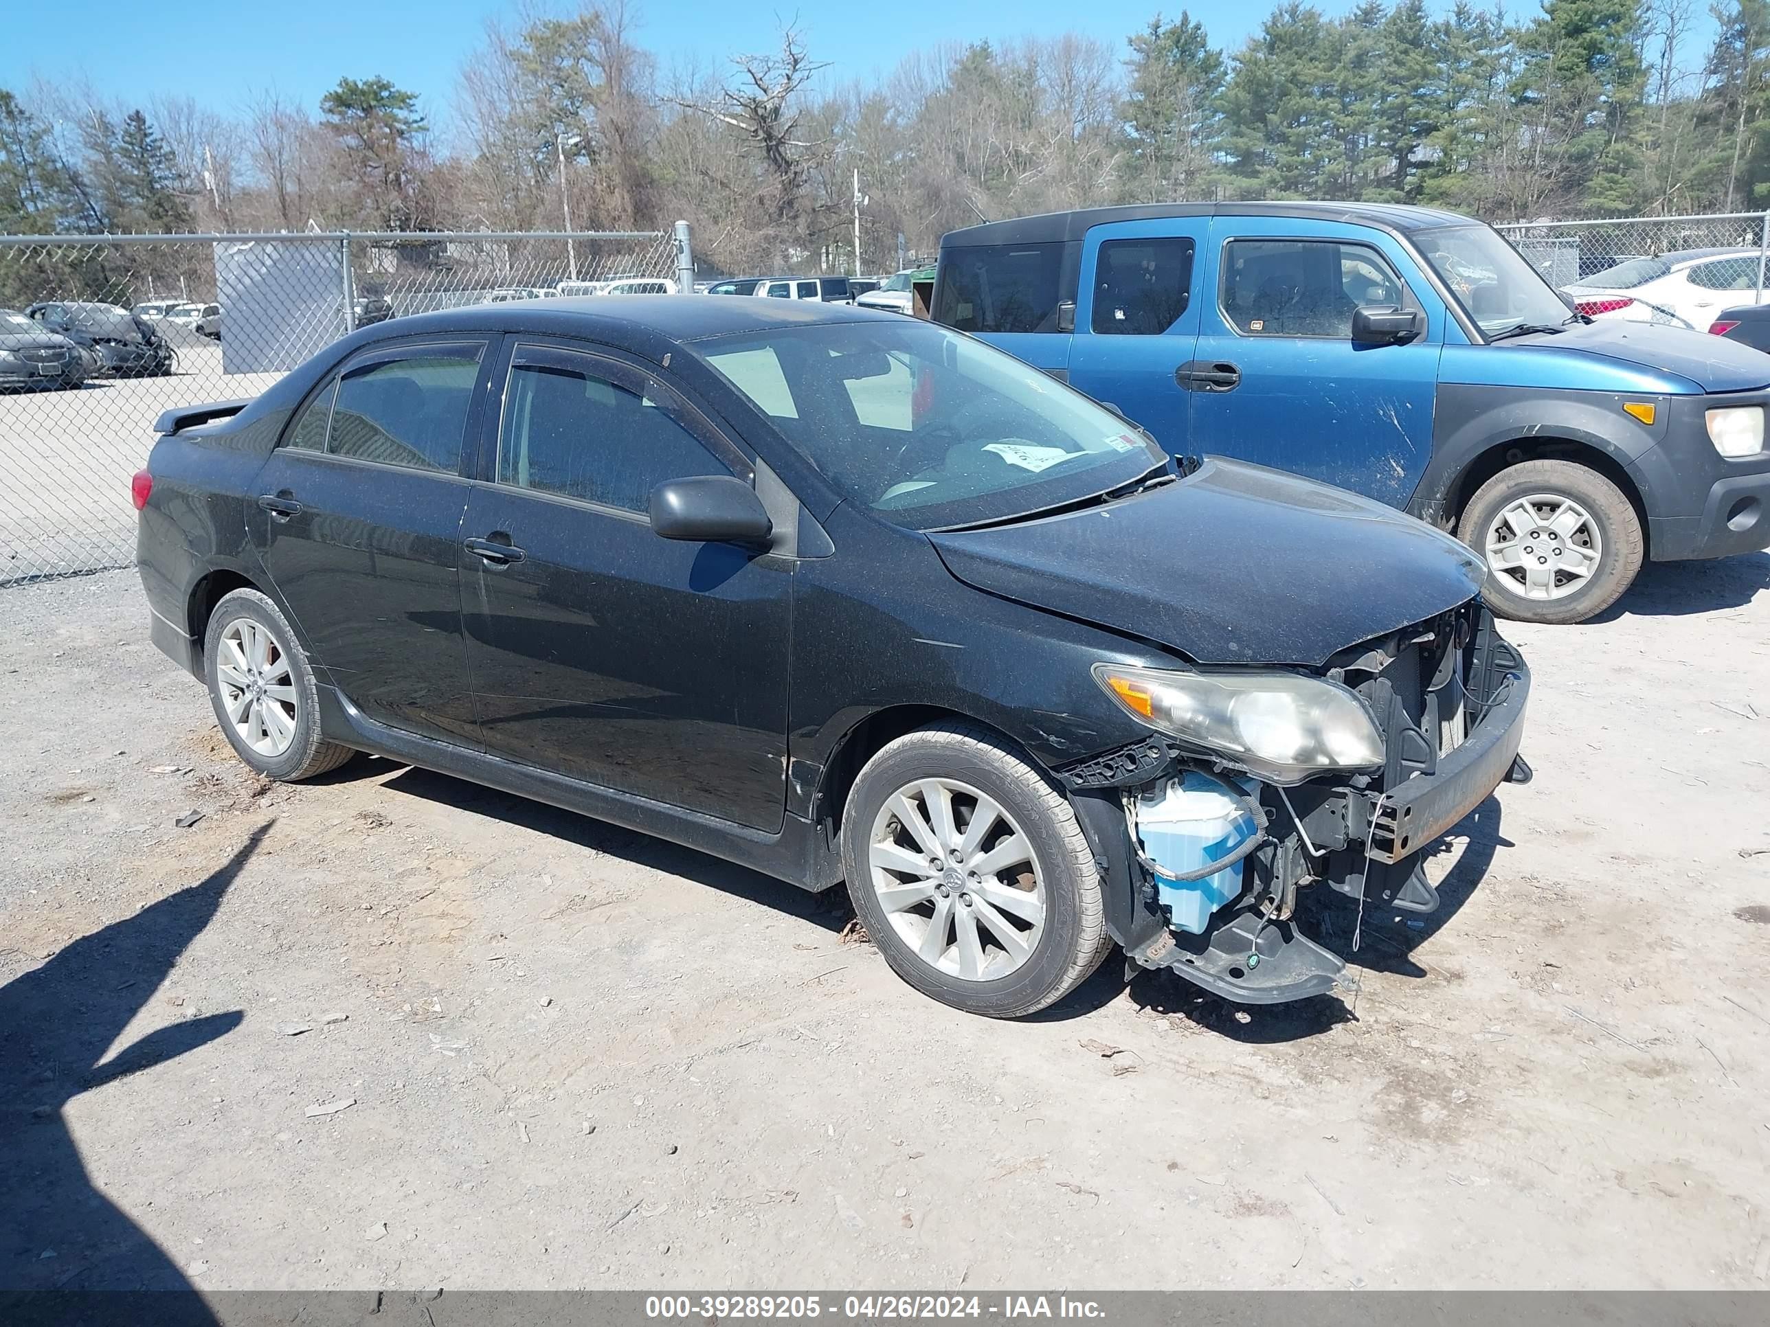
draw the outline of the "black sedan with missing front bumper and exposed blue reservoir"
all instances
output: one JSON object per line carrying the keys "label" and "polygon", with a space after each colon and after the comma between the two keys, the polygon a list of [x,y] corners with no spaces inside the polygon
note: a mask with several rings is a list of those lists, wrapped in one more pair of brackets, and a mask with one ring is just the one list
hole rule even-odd
{"label": "black sedan with missing front bumper and exposed blue reservoir", "polygon": [[246,764],[377,752],[846,881],[892,968],[979,1014],[1113,943],[1232,1000],[1324,993],[1299,888],[1430,911],[1421,851],[1529,775],[1474,554],[1175,460],[926,322],[450,310],[159,432],[152,637]]}

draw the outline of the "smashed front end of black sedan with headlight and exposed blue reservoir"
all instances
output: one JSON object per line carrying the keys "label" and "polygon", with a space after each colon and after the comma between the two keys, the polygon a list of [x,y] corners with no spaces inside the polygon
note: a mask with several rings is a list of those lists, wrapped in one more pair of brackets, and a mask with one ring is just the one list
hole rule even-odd
{"label": "smashed front end of black sedan with headlight and exposed blue reservoir", "polygon": [[1531,678],[1478,600],[1304,671],[1104,669],[1150,727],[1058,770],[1140,968],[1239,1003],[1331,991],[1342,959],[1303,936],[1297,890],[1428,913],[1421,853],[1519,756]]}

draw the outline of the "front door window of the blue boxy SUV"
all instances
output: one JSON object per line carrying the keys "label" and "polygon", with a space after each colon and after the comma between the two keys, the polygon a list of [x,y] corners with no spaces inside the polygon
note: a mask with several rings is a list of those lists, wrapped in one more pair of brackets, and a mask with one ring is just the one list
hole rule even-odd
{"label": "front door window of the blue boxy SUV", "polygon": [[1234,239],[1223,246],[1223,318],[1243,336],[1352,334],[1359,304],[1418,308],[1368,244],[1333,239]]}

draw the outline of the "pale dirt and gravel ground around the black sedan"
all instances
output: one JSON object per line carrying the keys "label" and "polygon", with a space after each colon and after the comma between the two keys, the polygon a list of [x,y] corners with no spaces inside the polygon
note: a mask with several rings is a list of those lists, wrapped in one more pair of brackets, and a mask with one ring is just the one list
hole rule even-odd
{"label": "pale dirt and gravel ground around the black sedan", "polygon": [[1536,782],[1356,996],[998,1024],[834,897],[257,784],[133,573],[0,589],[0,1286],[1763,1288],[1770,556],[1513,635]]}

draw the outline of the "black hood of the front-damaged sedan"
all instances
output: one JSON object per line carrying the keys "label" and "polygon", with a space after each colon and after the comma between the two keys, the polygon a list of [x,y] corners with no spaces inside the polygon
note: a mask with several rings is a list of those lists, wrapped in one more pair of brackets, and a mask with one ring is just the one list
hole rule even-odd
{"label": "black hood of the front-damaged sedan", "polygon": [[1216,458],[1136,497],[929,540],[975,589],[1195,664],[1319,667],[1467,602],[1485,575],[1469,548],[1393,508]]}

